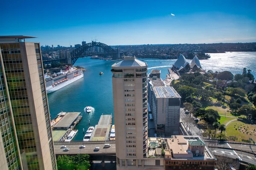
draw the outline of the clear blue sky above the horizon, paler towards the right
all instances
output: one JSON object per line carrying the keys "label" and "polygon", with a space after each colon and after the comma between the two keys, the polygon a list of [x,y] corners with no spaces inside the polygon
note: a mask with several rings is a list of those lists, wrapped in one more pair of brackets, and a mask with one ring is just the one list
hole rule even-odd
{"label": "clear blue sky above the horizon, paler towards the right", "polygon": [[2,0],[1,6],[1,35],[38,37],[32,41],[41,45],[95,38],[108,45],[256,42],[256,0]]}

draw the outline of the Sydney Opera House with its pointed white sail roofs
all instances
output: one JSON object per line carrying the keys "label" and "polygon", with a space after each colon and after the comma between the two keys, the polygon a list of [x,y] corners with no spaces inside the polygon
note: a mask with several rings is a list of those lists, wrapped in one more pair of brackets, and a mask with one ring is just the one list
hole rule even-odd
{"label": "Sydney Opera House with its pointed white sail roofs", "polygon": [[204,72],[197,56],[195,56],[189,64],[182,54],[180,54],[177,61],[174,63],[172,70],[180,74],[194,71]]}

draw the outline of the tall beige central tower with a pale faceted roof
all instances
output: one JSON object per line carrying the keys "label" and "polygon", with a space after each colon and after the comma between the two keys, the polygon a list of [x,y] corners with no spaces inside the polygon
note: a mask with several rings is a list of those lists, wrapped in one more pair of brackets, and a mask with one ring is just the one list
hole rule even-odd
{"label": "tall beige central tower with a pale faceted roof", "polygon": [[117,170],[141,167],[148,153],[147,67],[135,57],[112,65]]}

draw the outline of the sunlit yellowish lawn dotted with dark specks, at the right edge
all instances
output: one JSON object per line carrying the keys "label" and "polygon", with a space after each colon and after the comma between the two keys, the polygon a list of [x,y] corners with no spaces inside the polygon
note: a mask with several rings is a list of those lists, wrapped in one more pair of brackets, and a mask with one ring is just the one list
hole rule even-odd
{"label": "sunlit yellowish lawn dotted with dark specks, at the right edge", "polygon": [[240,136],[241,139],[249,140],[249,138],[252,138],[254,141],[256,141],[256,127],[253,125],[248,125],[243,122],[234,120],[233,122],[230,122],[226,128],[227,136],[236,136],[237,141],[239,141]]}

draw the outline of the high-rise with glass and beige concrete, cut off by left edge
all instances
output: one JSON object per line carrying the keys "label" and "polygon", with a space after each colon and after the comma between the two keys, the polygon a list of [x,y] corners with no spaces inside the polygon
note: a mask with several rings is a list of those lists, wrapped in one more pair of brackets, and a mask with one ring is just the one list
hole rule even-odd
{"label": "high-rise with glass and beige concrete, cut off by left edge", "polygon": [[0,36],[0,164],[5,169],[55,170],[39,43]]}

